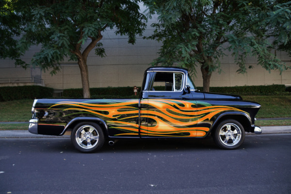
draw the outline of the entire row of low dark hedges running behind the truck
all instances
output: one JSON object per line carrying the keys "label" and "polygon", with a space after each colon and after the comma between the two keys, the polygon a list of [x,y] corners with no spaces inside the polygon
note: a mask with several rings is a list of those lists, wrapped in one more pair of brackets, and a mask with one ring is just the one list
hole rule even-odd
{"label": "entire row of low dark hedges running behind the truck", "polygon": [[[139,91],[138,94],[140,92]],[[202,91],[202,87],[197,87]],[[285,85],[259,85],[259,86],[234,86],[234,87],[210,87],[210,92],[237,94],[243,96],[251,95],[291,95],[291,87]],[[90,88],[92,98],[137,98],[133,95],[133,87],[106,87]],[[0,87],[0,101],[10,101],[19,99],[51,98],[53,89],[43,86],[6,86]],[[82,98],[82,89],[65,89],[63,98]]]}

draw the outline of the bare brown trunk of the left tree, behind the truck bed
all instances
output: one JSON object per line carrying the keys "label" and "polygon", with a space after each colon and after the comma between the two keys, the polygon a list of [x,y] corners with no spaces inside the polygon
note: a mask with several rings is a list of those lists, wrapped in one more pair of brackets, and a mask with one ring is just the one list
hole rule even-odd
{"label": "bare brown trunk of the left tree, behind the truck bed", "polygon": [[88,66],[86,64],[86,60],[78,57],[78,65],[81,71],[83,97],[90,98],[89,73],[88,73]]}

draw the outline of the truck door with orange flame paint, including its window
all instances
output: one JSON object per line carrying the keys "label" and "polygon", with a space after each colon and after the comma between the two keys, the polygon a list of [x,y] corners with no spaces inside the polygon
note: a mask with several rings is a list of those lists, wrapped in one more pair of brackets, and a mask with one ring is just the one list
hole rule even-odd
{"label": "truck door with orange flame paint, including its window", "polygon": [[141,135],[195,137],[197,107],[191,92],[186,89],[186,73],[155,71],[151,72],[151,80],[144,93],[147,101],[141,101],[142,116],[147,117],[147,127],[142,126]]}

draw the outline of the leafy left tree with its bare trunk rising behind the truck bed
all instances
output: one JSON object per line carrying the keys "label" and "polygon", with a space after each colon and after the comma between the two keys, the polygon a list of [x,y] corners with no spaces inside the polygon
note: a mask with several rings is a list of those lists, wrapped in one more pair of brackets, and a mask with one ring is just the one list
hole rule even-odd
{"label": "leafy left tree with its bare trunk rising behind the truck bed", "polygon": [[[78,61],[84,98],[90,97],[88,54],[95,49],[96,55],[105,56],[99,42],[102,32],[114,29],[116,34],[128,35],[128,42],[134,44],[135,36],[142,35],[146,27],[146,16],[139,12],[139,0],[5,1],[11,2],[14,15],[19,16],[23,23],[19,27],[22,32],[16,47],[10,45],[18,50],[18,55],[1,54],[1,57],[20,60],[21,63],[16,65],[23,67],[52,68],[52,74],[60,70],[60,63],[65,59]],[[13,33],[11,29],[8,32]],[[42,48],[34,54],[31,64],[24,63],[20,57],[32,45],[41,45]]]}

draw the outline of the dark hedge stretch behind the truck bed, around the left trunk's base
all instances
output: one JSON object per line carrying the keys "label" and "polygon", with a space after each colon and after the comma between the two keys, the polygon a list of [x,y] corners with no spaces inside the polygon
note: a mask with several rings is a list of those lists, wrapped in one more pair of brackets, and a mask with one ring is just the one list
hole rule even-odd
{"label": "dark hedge stretch behind the truck bed, around the left trunk's base", "polygon": [[[141,88],[141,87],[139,87]],[[139,94],[140,91],[138,91]],[[133,87],[106,87],[106,88],[90,88],[91,98],[134,98]],[[81,98],[82,89],[65,89],[64,97]]]}

